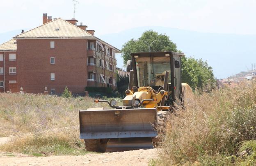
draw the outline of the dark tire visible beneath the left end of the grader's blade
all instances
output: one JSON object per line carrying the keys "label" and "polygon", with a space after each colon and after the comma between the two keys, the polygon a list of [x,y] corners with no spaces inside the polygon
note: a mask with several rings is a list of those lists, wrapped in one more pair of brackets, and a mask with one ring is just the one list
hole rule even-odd
{"label": "dark tire visible beneath the left end of the grader's blade", "polygon": [[107,141],[103,139],[85,139],[85,149],[91,152],[101,152],[106,151]]}

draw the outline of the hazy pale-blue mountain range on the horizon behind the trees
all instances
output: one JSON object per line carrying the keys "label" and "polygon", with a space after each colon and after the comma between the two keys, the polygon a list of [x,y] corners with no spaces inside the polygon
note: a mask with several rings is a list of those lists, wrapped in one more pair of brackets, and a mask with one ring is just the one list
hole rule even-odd
{"label": "hazy pale-blue mountain range on the horizon behind the trees", "polygon": [[[149,29],[167,34],[186,56],[207,60],[218,79],[244,71],[246,66],[256,63],[256,35],[201,33],[169,27],[137,27],[115,34],[96,36],[121,49],[128,40],[139,38],[144,31]],[[0,43],[20,33],[21,30],[2,33]],[[120,54],[117,56],[117,67],[122,66]]]}

